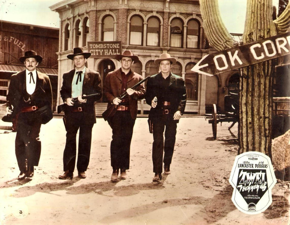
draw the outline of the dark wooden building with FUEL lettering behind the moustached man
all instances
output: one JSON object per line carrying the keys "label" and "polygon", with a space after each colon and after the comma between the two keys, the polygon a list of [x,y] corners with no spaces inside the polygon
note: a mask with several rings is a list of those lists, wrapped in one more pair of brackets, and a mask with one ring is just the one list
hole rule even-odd
{"label": "dark wooden building with FUEL lettering behind the moustached man", "polygon": [[51,80],[53,90],[53,107],[56,108],[59,29],[0,21],[0,95],[6,96],[12,74],[25,70],[19,61],[24,52],[34,50],[43,61],[37,70],[45,73]]}

